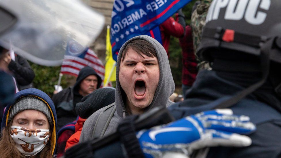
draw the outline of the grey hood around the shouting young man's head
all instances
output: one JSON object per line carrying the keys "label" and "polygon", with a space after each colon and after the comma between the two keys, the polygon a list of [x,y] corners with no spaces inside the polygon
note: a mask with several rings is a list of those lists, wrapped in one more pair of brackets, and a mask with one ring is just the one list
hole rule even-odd
{"label": "grey hood around the shouting young man's head", "polygon": [[[159,76],[159,82],[157,85],[156,92],[154,94],[153,100],[149,106],[145,108],[145,112],[150,110],[153,107],[157,106],[169,106],[172,104],[172,102],[169,99],[169,96],[171,96],[175,90],[175,84],[172,77],[172,72],[168,60],[168,56],[166,53],[166,50],[164,47],[154,38],[147,36],[147,35],[140,35],[133,37],[126,41],[124,45],[122,45],[118,56],[117,56],[117,62],[116,62],[116,91],[115,91],[115,104],[116,104],[116,111],[117,114],[120,117],[123,117],[123,112],[126,112],[126,107],[122,99],[122,87],[119,82],[119,67],[121,62],[121,56],[123,53],[123,50],[125,49],[126,45],[130,43],[133,40],[136,39],[142,39],[145,40],[153,46],[154,50],[157,54],[157,59],[159,63],[159,70],[160,70],[160,76]],[[123,96],[125,97],[125,96]],[[127,113],[127,112],[126,112]]]}

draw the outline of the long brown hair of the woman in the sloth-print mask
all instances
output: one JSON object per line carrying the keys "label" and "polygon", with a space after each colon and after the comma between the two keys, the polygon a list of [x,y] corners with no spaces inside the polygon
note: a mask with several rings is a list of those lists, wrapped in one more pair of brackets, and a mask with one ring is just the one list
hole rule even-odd
{"label": "long brown hair of the woman in the sloth-print mask", "polygon": [[[20,151],[18,151],[16,144],[12,137],[10,136],[10,127],[12,125],[13,121],[10,121],[10,123],[2,130],[2,136],[0,138],[0,153],[2,158],[25,158],[26,156],[22,155]],[[53,143],[52,143],[52,131],[53,127],[50,124],[50,137],[49,141],[44,147],[44,149],[36,154],[34,157],[36,158],[51,158],[52,157],[52,149],[53,149]]]}

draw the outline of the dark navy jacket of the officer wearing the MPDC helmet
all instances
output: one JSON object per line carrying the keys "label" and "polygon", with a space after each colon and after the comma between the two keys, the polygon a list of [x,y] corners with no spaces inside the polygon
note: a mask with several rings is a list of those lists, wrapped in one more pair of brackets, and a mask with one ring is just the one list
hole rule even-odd
{"label": "dark navy jacket of the officer wearing the MPDC helmet", "polygon": [[[239,84],[219,77],[215,71],[200,71],[193,87],[187,91],[187,99],[170,106],[169,110],[176,119],[179,119],[215,108],[220,102],[243,89],[244,87]],[[274,101],[274,104],[278,105],[278,102]],[[251,121],[257,125],[257,131],[249,135],[252,145],[243,148],[210,148],[208,158],[274,158],[281,156],[281,113],[272,104],[261,102],[253,93],[233,105],[231,109],[235,115],[249,116]]]}

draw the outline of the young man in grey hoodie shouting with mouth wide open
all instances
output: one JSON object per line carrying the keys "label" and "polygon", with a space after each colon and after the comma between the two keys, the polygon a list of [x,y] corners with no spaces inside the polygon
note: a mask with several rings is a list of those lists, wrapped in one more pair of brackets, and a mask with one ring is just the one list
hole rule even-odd
{"label": "young man in grey hoodie shouting with mouth wide open", "polygon": [[173,104],[169,96],[174,89],[164,47],[146,35],[128,40],[117,57],[115,103],[86,120],[80,142],[115,131],[118,122],[128,115],[142,114],[156,106],[168,107]]}

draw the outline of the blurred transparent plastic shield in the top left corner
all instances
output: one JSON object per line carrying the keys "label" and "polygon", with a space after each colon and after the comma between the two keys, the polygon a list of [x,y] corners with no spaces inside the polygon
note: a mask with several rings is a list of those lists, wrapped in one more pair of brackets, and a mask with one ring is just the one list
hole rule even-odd
{"label": "blurred transparent plastic shield in the top left corner", "polygon": [[60,65],[67,49],[81,53],[104,26],[104,17],[78,0],[0,0],[0,6],[17,17],[0,45],[45,66]]}

